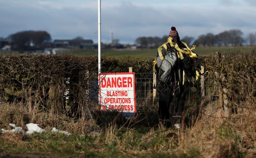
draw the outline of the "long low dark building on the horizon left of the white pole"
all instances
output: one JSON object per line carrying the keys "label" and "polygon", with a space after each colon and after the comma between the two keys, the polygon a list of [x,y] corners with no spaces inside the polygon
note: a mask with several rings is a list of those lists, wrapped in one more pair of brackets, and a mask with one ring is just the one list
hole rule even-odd
{"label": "long low dark building on the horizon left of the white pole", "polygon": [[67,48],[67,47],[79,47],[79,48],[93,48],[92,40],[54,40],[52,42],[53,47]]}

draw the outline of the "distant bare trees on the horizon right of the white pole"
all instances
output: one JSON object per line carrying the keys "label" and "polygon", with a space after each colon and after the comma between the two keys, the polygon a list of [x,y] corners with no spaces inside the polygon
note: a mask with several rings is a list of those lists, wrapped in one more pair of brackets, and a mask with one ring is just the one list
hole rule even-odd
{"label": "distant bare trees on the horizon right of the white pole", "polygon": [[[207,33],[198,36],[196,40],[194,37],[185,36],[181,38],[181,41],[187,43],[188,45],[197,46],[239,46],[243,43],[248,43],[250,45],[255,45],[256,33],[250,33],[247,36],[247,40],[243,38],[243,32],[240,29],[231,29],[228,31],[223,31],[217,35],[212,33]],[[166,42],[168,36],[160,37],[138,37],[135,40],[135,44],[140,48],[156,48]],[[193,43],[192,43],[193,42]]]}

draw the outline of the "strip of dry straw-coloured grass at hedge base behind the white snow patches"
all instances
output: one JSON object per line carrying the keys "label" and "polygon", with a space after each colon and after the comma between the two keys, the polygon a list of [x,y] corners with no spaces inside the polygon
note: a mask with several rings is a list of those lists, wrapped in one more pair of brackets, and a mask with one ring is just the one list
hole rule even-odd
{"label": "strip of dry straw-coloured grass at hedge base behind the white snow patches", "polygon": [[67,130],[75,134],[85,134],[87,130],[99,130],[96,120],[91,117],[81,117],[78,120],[66,117],[65,115],[51,115],[46,112],[38,112],[38,108],[31,107],[24,103],[0,103],[0,124],[1,128],[11,129],[9,123],[27,130],[27,123],[39,124],[46,130],[56,127],[60,130]]}

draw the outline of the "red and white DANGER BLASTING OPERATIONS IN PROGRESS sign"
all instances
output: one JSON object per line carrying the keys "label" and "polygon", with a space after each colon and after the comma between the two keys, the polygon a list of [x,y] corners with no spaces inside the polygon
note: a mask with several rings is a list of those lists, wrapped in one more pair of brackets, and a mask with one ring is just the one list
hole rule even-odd
{"label": "red and white DANGER BLASTING OPERATIONS IN PROGRESS sign", "polygon": [[133,73],[99,74],[101,110],[135,113],[135,80]]}

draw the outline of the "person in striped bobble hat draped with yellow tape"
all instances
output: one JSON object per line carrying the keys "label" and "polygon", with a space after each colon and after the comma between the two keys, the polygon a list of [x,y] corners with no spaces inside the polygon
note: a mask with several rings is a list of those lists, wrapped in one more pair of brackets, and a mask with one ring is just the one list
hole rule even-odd
{"label": "person in striped bobble hat draped with yellow tape", "polygon": [[[167,126],[172,125],[172,127],[175,127],[175,128],[181,128],[181,116],[182,116],[182,113],[184,112],[186,93],[189,89],[188,80],[190,80],[192,76],[192,75],[189,75],[188,73],[191,67],[189,66],[190,63],[184,64],[184,62],[187,62],[186,61],[187,56],[185,54],[184,54],[183,61],[181,61],[177,57],[178,51],[175,49],[175,47],[173,47],[173,45],[177,44],[180,49],[186,48],[186,46],[180,41],[179,33],[177,32],[175,27],[171,28],[168,41],[170,41],[170,43],[172,42],[172,44],[165,43],[167,50],[165,50],[164,47],[162,47],[161,53],[162,55],[165,54],[164,59],[166,58],[166,56],[168,56],[167,55],[168,53],[172,53],[173,59],[171,60],[174,60],[175,58],[177,60],[175,61],[175,64],[170,66],[171,72],[168,74],[170,76],[169,77],[170,79],[167,79],[167,81],[164,83],[162,82],[163,80],[161,81],[161,75],[163,74],[163,70],[161,69],[161,67],[163,67],[163,65],[161,65],[161,67],[159,67],[159,65],[158,67],[156,66],[156,71],[155,71],[157,75],[156,89],[159,94],[158,115],[159,115],[159,121],[162,124],[165,124]],[[159,57],[159,54],[157,57]],[[170,60],[170,59],[167,59],[167,60]],[[156,61],[157,61],[157,64],[161,62],[159,58],[156,59]],[[162,63],[164,64],[164,60],[162,60]],[[170,61],[170,63],[172,62]],[[186,72],[185,75],[183,75],[183,72]],[[171,115],[169,113],[170,105],[171,105]]]}

